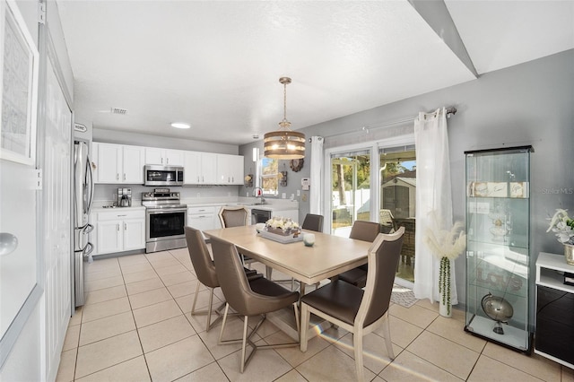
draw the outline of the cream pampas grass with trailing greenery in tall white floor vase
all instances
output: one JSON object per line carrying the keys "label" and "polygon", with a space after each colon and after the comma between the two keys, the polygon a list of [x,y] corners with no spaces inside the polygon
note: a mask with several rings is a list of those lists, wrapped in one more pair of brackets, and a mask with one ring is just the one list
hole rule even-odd
{"label": "cream pampas grass with trailing greenery in tall white floor vase", "polygon": [[439,313],[444,317],[452,316],[450,285],[450,262],[456,259],[466,247],[466,235],[462,221],[457,221],[450,230],[440,230],[439,219],[431,213],[435,229],[428,229],[424,237],[425,244],[433,256],[439,259]]}

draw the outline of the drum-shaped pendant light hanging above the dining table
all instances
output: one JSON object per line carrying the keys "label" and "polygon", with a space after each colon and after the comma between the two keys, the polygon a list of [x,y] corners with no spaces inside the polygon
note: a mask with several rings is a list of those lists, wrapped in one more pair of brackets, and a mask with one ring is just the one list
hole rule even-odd
{"label": "drum-shaped pendant light hanging above the dining table", "polygon": [[283,121],[279,122],[279,130],[265,134],[264,155],[272,159],[301,159],[305,157],[305,135],[291,131],[287,120],[287,84],[291,78],[281,77],[279,82],[283,83]]}

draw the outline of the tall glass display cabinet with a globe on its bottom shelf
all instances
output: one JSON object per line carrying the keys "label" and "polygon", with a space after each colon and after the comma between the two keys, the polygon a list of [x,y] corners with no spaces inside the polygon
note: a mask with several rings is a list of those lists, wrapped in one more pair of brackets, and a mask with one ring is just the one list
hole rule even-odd
{"label": "tall glass display cabinet with a globe on its bottom shelf", "polygon": [[465,331],[530,352],[530,152],[465,152]]}

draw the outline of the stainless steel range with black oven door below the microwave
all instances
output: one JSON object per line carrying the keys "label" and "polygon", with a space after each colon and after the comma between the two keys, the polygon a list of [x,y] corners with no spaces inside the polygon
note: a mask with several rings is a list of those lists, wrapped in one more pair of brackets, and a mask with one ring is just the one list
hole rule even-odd
{"label": "stainless steel range with black oven door below the microwave", "polygon": [[184,227],[187,205],[181,204],[178,192],[155,188],[142,193],[145,206],[145,252],[158,252],[187,246]]}

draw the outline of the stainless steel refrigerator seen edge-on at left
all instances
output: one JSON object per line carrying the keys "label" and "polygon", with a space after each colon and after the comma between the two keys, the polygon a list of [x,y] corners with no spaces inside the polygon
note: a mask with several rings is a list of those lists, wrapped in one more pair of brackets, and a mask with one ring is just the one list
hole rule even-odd
{"label": "stainless steel refrigerator seen edge-on at left", "polygon": [[88,236],[93,230],[93,226],[89,223],[93,203],[93,177],[89,150],[88,143],[74,142],[74,280],[72,290],[76,307],[84,303],[83,265],[86,261],[91,262],[93,250]]}

